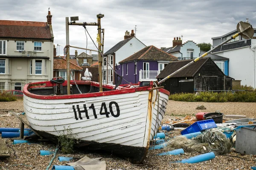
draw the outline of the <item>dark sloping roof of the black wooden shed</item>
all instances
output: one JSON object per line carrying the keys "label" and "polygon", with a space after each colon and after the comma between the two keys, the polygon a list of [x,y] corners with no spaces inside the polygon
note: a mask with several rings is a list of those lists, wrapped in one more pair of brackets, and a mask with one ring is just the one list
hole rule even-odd
{"label": "dark sloping roof of the black wooden shed", "polygon": [[[184,68],[182,71],[178,72],[172,77],[194,77],[194,75],[198,72],[198,70],[202,67],[202,65],[204,65],[204,63],[208,59],[210,59],[210,57],[201,58],[197,62],[193,63],[192,65],[189,65],[187,68]],[[161,71],[157,78],[165,78],[191,61],[193,60],[185,59],[170,62],[168,65],[166,65],[163,71]]]}

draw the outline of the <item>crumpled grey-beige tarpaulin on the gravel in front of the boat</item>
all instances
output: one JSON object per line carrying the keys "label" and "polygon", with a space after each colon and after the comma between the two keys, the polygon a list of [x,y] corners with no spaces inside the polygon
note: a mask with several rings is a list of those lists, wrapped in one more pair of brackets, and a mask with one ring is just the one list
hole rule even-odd
{"label": "crumpled grey-beige tarpaulin on the gravel in front of the boat", "polygon": [[68,163],[68,165],[73,166],[75,170],[106,170],[106,162],[100,161],[101,159],[102,158],[90,159],[84,156],[76,162]]}

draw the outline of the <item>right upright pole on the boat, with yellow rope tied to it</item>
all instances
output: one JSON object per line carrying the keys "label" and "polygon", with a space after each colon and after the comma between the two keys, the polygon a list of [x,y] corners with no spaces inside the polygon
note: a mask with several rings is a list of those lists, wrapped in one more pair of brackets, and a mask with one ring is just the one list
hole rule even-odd
{"label": "right upright pole on the boat, with yellow rope tied to it", "polygon": [[99,34],[99,44],[98,44],[98,48],[99,48],[99,52],[98,52],[98,60],[99,60],[99,91],[102,92],[102,57],[101,57],[101,23],[100,20],[101,18],[104,17],[103,14],[98,14],[97,18],[98,18],[98,34]]}

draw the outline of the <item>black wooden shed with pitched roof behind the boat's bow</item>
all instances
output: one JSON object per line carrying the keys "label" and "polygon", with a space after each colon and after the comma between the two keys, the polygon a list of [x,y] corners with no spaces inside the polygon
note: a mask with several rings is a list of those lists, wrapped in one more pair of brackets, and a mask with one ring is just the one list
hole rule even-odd
{"label": "black wooden shed with pitched roof behind the boat's bow", "polygon": [[[169,76],[192,59],[170,62],[157,76],[158,81]],[[171,94],[193,93],[197,91],[232,90],[232,79],[226,76],[210,57],[204,57],[184,68],[165,82],[161,83]]]}

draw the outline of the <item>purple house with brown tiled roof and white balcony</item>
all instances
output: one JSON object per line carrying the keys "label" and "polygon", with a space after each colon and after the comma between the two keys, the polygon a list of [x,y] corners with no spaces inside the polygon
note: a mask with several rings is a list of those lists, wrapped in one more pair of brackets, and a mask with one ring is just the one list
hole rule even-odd
{"label": "purple house with brown tiled roof and white balcony", "polygon": [[[116,72],[128,82],[140,81],[140,85],[146,85],[150,81],[156,81],[157,75],[165,66],[175,60],[178,60],[177,57],[151,45],[120,61],[120,65],[116,66]],[[121,83],[127,84],[125,80]]]}

